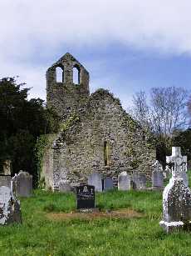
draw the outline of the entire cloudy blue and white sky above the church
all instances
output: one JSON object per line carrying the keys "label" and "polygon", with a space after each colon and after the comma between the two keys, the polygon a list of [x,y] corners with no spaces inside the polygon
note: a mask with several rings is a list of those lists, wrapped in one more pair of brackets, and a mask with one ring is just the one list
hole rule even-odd
{"label": "entire cloudy blue and white sky above the church", "polygon": [[0,78],[46,99],[47,68],[71,53],[91,93],[109,89],[124,108],[140,90],[191,89],[190,0],[1,0]]}

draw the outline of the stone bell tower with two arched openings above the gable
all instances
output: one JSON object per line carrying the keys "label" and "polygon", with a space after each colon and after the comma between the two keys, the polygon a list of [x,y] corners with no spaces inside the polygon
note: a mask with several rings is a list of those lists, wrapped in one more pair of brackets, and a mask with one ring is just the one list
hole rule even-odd
{"label": "stone bell tower with two arched openings above the gable", "polygon": [[78,111],[89,95],[89,73],[70,53],[47,69],[47,108],[61,119]]}

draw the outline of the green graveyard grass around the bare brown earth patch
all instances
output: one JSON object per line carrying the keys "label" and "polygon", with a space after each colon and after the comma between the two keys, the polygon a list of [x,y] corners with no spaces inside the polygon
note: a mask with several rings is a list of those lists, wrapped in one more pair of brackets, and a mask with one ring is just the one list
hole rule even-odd
{"label": "green graveyard grass around the bare brown earth patch", "polygon": [[70,213],[73,193],[36,190],[21,198],[23,223],[0,227],[0,255],[191,255],[190,233],[164,233],[162,193],[110,191],[96,193],[101,210],[131,208],[140,218],[67,219],[53,221],[50,212]]}

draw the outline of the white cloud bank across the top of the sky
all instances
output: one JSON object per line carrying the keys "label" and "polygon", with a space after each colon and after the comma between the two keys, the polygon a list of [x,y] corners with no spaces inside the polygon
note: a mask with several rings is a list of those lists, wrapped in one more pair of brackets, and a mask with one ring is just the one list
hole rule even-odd
{"label": "white cloud bank across the top of the sky", "polygon": [[0,10],[0,75],[20,75],[36,97],[45,98],[48,65],[30,62],[61,45],[191,53],[190,0],[2,0]]}

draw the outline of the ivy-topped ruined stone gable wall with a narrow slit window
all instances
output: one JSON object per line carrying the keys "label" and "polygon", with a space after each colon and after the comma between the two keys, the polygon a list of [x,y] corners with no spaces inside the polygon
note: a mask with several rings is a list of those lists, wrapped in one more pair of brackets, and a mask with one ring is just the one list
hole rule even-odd
{"label": "ivy-topped ruined stone gable wall with a narrow slit window", "polygon": [[[80,120],[59,135],[53,150],[53,177],[70,183],[86,182],[90,173],[99,172],[117,179],[122,171],[150,175],[155,150],[147,134],[125,113],[110,93],[93,93]],[[105,166],[104,144],[108,164]]]}

